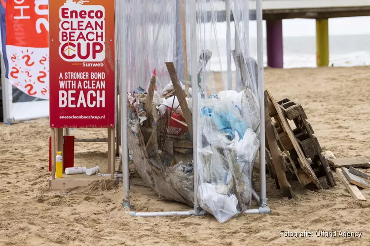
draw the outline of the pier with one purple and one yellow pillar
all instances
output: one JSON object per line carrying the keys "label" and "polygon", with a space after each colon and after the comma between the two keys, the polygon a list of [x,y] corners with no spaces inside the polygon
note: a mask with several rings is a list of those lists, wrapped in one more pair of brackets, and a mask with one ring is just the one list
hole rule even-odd
{"label": "pier with one purple and one yellow pillar", "polygon": [[[210,21],[212,17],[216,17],[217,22],[226,21],[224,1],[214,5],[207,6],[210,9],[201,21]],[[212,16],[211,7],[218,10],[216,16]],[[231,10],[233,12],[233,8]],[[250,0],[249,20],[255,20],[255,12],[256,1]],[[267,65],[283,67],[283,19],[316,19],[316,63],[317,66],[328,66],[328,19],[356,16],[370,16],[370,0],[262,0],[262,18],[266,21],[267,32]],[[231,13],[230,21],[233,20]]]}

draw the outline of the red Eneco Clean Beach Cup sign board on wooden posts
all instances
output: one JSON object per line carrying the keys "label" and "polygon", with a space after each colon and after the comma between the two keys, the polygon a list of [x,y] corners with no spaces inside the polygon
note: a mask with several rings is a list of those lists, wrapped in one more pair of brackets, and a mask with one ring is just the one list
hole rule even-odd
{"label": "red Eneco Clean Beach Cup sign board on wooden posts", "polygon": [[50,127],[114,127],[114,0],[52,0]]}

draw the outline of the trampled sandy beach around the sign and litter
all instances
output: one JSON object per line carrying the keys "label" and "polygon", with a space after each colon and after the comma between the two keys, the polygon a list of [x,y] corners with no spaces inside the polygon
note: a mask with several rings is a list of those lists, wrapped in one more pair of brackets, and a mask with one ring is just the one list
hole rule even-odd
{"label": "trampled sandy beach around the sign and litter", "polygon": [[[370,67],[265,69],[265,87],[275,99],[302,104],[323,150],[336,157],[370,160]],[[107,137],[106,130],[83,129],[78,138]],[[225,223],[212,216],[131,217],[121,206],[122,185],[97,182],[68,191],[48,186],[47,119],[0,125],[0,246],[244,246],[367,245],[370,191],[355,201],[334,172],[337,185],[310,191],[291,183],[296,200],[283,199],[267,175],[269,215],[241,215]],[[107,143],[76,143],[76,166],[104,166]],[[131,204],[138,212],[184,211],[161,201],[131,167]],[[370,171],[367,171],[370,173]],[[255,175],[258,184],[258,175]],[[257,190],[259,189],[257,185]],[[280,237],[280,231],[313,233]],[[316,236],[337,231],[337,237]],[[362,232],[361,238],[339,237]]]}

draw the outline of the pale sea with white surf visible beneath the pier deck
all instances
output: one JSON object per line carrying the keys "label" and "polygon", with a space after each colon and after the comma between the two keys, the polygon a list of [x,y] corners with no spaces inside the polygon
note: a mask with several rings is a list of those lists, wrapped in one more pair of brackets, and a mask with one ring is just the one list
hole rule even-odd
{"label": "pale sea with white surf visible beneath the pier deck", "polygon": [[[213,58],[210,70],[221,71],[227,68],[226,39],[219,38],[219,49],[212,46]],[[264,65],[267,66],[266,39],[263,42]],[[284,68],[316,67],[316,37],[284,37]],[[232,45],[233,48],[233,45]],[[333,35],[329,39],[329,65],[363,66],[370,65],[370,35]],[[250,38],[250,56],[257,60],[257,38]],[[218,58],[219,57],[219,58]],[[221,63],[221,64],[220,64]],[[234,62],[231,66],[235,70]]]}

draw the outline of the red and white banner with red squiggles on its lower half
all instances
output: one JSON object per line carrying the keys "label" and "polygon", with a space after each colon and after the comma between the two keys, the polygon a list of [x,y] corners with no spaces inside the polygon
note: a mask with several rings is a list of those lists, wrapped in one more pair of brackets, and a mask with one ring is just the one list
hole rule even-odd
{"label": "red and white banner with red squiggles on its lower half", "polygon": [[49,98],[48,14],[48,0],[6,1],[7,76],[19,90],[42,99]]}

